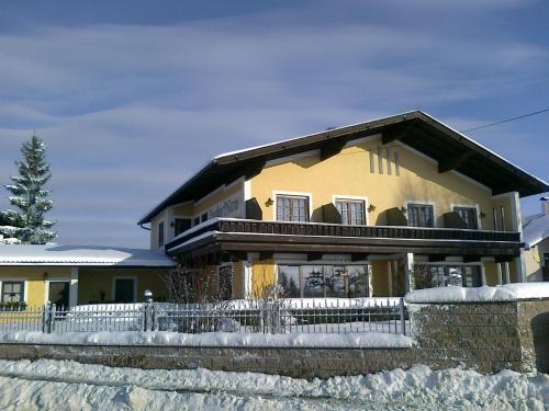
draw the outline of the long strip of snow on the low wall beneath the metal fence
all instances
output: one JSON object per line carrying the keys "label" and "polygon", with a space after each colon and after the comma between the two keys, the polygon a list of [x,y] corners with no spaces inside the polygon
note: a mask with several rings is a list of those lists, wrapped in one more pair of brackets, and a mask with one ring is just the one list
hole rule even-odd
{"label": "long strip of snow on the low wall beneath the metal fence", "polygon": [[186,334],[166,331],[63,332],[38,331],[0,333],[0,343],[96,344],[96,345],[177,345],[177,346],[254,346],[254,347],[399,347],[412,346],[405,335],[383,332],[261,334],[204,332]]}

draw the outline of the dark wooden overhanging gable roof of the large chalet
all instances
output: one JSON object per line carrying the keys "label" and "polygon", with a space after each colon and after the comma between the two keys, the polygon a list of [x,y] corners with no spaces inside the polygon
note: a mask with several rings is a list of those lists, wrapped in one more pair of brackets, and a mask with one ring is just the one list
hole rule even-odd
{"label": "dark wooden overhanging gable roof of the large chalet", "polygon": [[544,180],[428,114],[413,111],[216,156],[137,224],[149,222],[164,208],[199,199],[243,175],[250,178],[269,160],[312,149],[321,149],[321,158],[327,158],[339,152],[346,142],[376,134],[382,135],[383,144],[399,140],[437,160],[439,172],[456,170],[484,184],[493,195],[516,191],[523,197],[549,191]]}

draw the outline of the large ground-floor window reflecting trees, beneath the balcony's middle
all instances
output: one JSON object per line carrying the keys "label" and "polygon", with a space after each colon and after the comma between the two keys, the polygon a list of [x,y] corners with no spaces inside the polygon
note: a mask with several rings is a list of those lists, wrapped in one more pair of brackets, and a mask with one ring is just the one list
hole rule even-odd
{"label": "large ground-floor window reflecting trees, beneath the balcony's middle", "polygon": [[278,265],[278,284],[287,298],[368,297],[369,265]]}

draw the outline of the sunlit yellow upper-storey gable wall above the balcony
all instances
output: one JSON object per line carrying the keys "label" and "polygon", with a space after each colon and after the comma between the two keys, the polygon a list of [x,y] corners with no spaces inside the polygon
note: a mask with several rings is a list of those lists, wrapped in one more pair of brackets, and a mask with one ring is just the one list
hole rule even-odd
{"label": "sunlit yellow upper-storey gable wall above the balcony", "polygon": [[[264,219],[276,218],[273,191],[311,193],[312,220],[320,220],[314,213],[318,207],[332,203],[333,195],[367,196],[376,209],[369,213],[369,225],[386,225],[385,210],[402,207],[406,201],[433,202],[436,227],[444,227],[441,215],[452,210],[452,204],[479,205],[486,216],[492,210],[491,191],[472,183],[452,172],[438,173],[436,162],[430,161],[402,145],[391,144],[391,157],[397,151],[400,175],[388,175],[386,160],[383,174],[379,173],[377,155],[376,172],[370,172],[369,149],[378,152],[380,140],[356,144],[344,148],[339,155],[320,161],[318,156],[299,158],[289,162],[265,168],[251,179],[251,196],[256,197],[264,212]],[[385,148],[382,146],[383,156]],[[267,203],[267,204],[266,204]],[[491,218],[481,219],[484,229],[491,229]]]}

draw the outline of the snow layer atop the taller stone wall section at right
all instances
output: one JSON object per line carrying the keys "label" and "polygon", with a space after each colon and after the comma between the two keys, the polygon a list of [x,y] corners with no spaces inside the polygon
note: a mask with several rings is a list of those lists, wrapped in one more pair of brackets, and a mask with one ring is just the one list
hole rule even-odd
{"label": "snow layer atop the taller stone wall section at right", "polygon": [[549,298],[549,283],[514,283],[497,287],[447,287],[417,289],[406,294],[406,302],[516,301]]}

